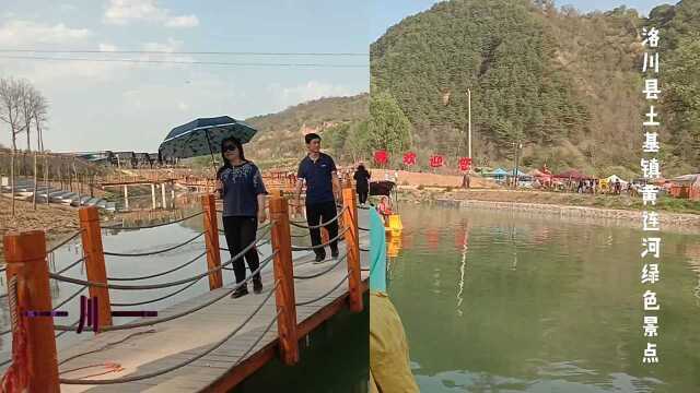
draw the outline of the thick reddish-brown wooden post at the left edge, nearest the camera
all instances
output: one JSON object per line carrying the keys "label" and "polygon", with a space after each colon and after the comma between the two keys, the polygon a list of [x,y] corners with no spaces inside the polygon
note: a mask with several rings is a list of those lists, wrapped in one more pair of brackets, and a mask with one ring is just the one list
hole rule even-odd
{"label": "thick reddish-brown wooden post at the left edge, nearest the camera", "polygon": [[[3,238],[3,247],[8,291],[10,281],[18,276],[16,312],[20,312],[20,320],[24,319],[27,334],[26,367],[28,370],[20,370],[20,372],[26,371],[30,378],[26,381],[27,385],[18,386],[16,391],[59,393],[54,318],[28,319],[21,314],[24,311],[51,310],[46,236],[40,230],[7,235]],[[16,335],[14,338],[18,338]],[[18,344],[19,340],[13,340],[12,345]]]}

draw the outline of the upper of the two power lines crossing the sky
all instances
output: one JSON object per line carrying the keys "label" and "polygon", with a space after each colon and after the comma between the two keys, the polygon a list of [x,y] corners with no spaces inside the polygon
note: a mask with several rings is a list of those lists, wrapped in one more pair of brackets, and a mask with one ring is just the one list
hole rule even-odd
{"label": "upper of the two power lines crossing the sky", "polygon": [[168,51],[168,50],[58,50],[58,49],[2,49],[3,53],[121,53],[121,55],[223,55],[223,56],[319,56],[319,57],[369,57],[360,52],[255,52],[255,51]]}

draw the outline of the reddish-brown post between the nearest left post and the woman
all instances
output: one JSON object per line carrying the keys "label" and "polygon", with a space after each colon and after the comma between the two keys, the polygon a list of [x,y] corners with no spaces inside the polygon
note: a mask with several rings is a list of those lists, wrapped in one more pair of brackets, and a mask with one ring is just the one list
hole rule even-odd
{"label": "reddish-brown post between the nearest left post and the woman", "polygon": [[[102,230],[100,229],[100,213],[95,206],[81,207],[80,216],[81,239],[83,255],[85,255],[85,270],[88,279],[95,283],[107,284],[107,270],[105,267],[105,254],[102,247]],[[105,287],[90,286],[90,297],[97,298],[98,326],[95,333],[103,326],[112,326],[112,306],[109,305],[109,289]]]}

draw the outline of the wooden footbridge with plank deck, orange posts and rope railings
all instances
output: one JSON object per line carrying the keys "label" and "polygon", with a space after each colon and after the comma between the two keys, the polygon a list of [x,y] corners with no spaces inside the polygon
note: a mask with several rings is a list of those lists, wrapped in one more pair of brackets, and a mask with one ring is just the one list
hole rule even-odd
{"label": "wooden footbridge with plank deck, orange posts and rope railings", "polygon": [[[363,295],[368,291],[369,255],[366,246],[361,247],[361,242],[366,242],[363,235],[366,229],[359,225],[368,222],[366,213],[358,209],[351,184],[345,184],[342,195],[342,207],[335,218],[341,224],[336,238],[343,241],[339,243],[341,257],[323,264],[311,263],[310,257],[293,257],[294,252],[310,251],[313,247],[293,246],[290,227],[308,229],[308,226],[290,221],[289,204],[281,194],[271,196],[270,224],[260,228],[260,233],[270,233],[272,249],[260,266],[266,290],[238,299],[229,297],[237,285],[222,284],[222,270],[229,269],[236,257],[222,263],[221,230],[212,194],[201,196],[205,227],[201,235],[206,243],[202,257],[206,254],[207,266],[202,266],[201,274],[176,282],[114,284],[114,278],[107,275],[105,254],[142,254],[105,252],[103,228],[94,206],[79,212],[84,257],[75,263],[85,264],[86,279],[63,275],[72,265],[57,273],[49,272],[44,233],[5,236],[5,296],[13,314],[9,332],[13,337],[13,355],[3,366],[5,376],[13,376],[11,380],[19,384],[18,392],[20,388],[28,392],[229,392],[275,357],[290,366],[303,361],[300,341],[339,311],[362,312],[366,307]],[[258,235],[246,249],[264,238]],[[268,263],[272,265],[271,271],[262,271]],[[183,285],[205,277],[209,281],[208,293],[161,310],[156,318],[113,324],[110,291],[177,286],[182,291]],[[75,331],[77,323],[58,325],[52,317],[23,314],[52,309],[50,279],[88,287],[90,297],[96,299],[92,306],[97,311],[93,320],[97,323],[97,333],[60,353],[56,349],[56,332],[60,335]],[[107,365],[112,372],[80,377],[95,365],[103,368]],[[22,376],[31,377],[22,379]]]}

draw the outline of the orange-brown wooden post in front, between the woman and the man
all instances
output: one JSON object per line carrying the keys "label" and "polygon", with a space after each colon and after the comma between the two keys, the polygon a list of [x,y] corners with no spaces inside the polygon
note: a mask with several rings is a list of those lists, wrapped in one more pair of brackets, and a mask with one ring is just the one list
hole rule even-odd
{"label": "orange-brown wooden post in front, between the woman and the man", "polygon": [[296,297],[294,296],[294,269],[292,265],[292,238],[289,227],[287,200],[273,195],[270,199],[272,226],[272,250],[275,255],[275,282],[277,289],[277,329],[280,336],[280,355],[285,365],[299,361],[299,337],[296,336]]}

